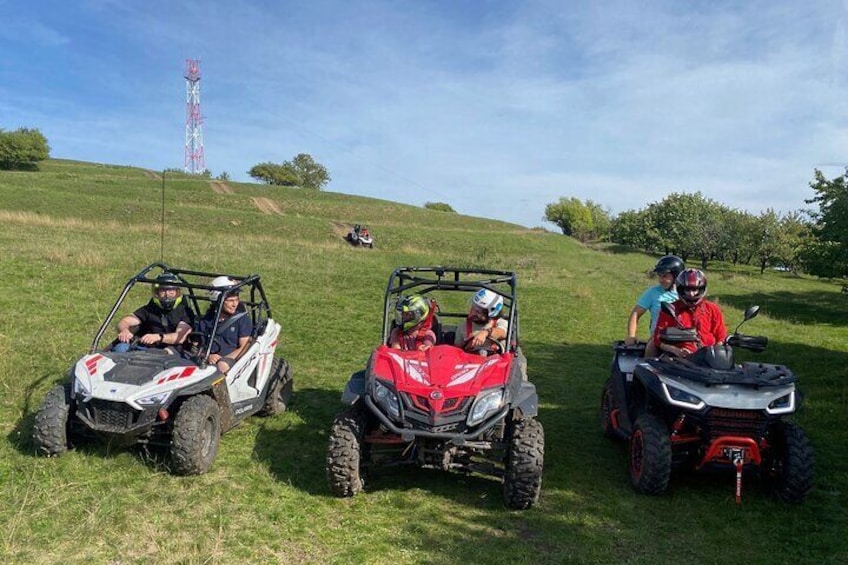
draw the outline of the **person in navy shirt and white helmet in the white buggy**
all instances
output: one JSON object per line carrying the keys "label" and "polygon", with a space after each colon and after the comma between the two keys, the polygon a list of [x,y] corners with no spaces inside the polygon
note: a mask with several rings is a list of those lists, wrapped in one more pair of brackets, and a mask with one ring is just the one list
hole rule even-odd
{"label": "person in navy shirt and white helmet in the white buggy", "polygon": [[218,304],[221,306],[221,314],[218,316],[218,327],[215,335],[209,336],[212,340],[212,349],[209,352],[210,363],[214,363],[221,373],[226,374],[235,364],[236,360],[245,352],[250,345],[250,337],[253,335],[253,322],[244,307],[241,307],[239,289],[231,288],[238,284],[229,277],[220,276],[212,280],[211,286],[216,289],[209,292],[209,309],[197,324],[198,333],[210,334],[215,328],[215,318]]}

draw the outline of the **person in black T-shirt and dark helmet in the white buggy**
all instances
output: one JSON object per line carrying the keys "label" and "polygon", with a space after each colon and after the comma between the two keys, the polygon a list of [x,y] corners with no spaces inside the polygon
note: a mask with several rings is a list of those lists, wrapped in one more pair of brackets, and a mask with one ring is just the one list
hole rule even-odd
{"label": "person in black T-shirt and dark helmet in the white buggy", "polygon": [[138,336],[140,348],[165,348],[179,345],[191,333],[194,314],[183,302],[173,273],[164,272],[153,284],[153,298],[128,316],[118,320],[118,342],[112,348],[116,353],[130,350],[130,341]]}

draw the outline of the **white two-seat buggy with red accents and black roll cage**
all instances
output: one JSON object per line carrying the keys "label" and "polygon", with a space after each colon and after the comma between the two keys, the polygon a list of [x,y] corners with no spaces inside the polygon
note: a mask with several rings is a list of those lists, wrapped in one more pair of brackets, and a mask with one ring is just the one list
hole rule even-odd
{"label": "white two-seat buggy with red accents and black roll cage", "polygon": [[[137,284],[156,284],[162,273],[174,275],[178,281],[174,286],[181,289],[181,298],[195,314],[201,313],[201,304],[217,308],[215,320],[224,303],[218,297],[240,293],[236,316],[250,317],[253,334],[248,349],[226,375],[207,360],[216,353],[211,336],[231,326],[227,322],[216,321],[208,335],[192,333],[181,351],[136,344],[119,353],[112,350],[116,342],[100,346],[131,289]],[[210,280],[222,276],[232,284],[210,286]],[[68,381],[47,393],[35,415],[36,450],[58,456],[85,437],[149,444],[169,449],[171,472],[205,473],[215,461],[222,433],[253,414],[286,410],[292,373],[289,364],[275,356],[279,341],[280,324],[271,317],[259,275],[149,265],[127,282],[89,352],[69,370]]]}

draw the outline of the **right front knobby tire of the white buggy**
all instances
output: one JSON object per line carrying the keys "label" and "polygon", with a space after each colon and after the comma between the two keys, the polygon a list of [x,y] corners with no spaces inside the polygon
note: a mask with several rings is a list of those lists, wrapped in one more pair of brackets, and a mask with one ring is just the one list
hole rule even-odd
{"label": "right front knobby tire of the white buggy", "polygon": [[171,438],[171,471],[177,475],[200,475],[218,455],[221,411],[215,400],[199,394],[180,407]]}

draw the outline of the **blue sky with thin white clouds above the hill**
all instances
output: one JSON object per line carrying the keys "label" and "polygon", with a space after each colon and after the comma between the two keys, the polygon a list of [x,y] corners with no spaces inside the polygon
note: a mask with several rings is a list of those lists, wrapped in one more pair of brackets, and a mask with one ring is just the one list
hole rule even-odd
{"label": "blue sky with thin white clouds above the hill", "polygon": [[848,0],[0,0],[0,128],[51,156],[206,168],[308,153],[325,190],[545,226],[700,191],[809,207],[848,164]]}

